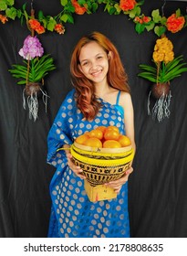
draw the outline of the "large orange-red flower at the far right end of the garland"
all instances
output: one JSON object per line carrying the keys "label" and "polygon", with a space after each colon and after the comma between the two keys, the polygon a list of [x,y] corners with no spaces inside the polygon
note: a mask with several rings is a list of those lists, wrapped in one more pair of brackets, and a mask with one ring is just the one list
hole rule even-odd
{"label": "large orange-red flower at the far right end of the garland", "polygon": [[182,29],[185,23],[185,18],[183,16],[176,16],[172,14],[167,18],[166,27],[171,33],[176,33]]}

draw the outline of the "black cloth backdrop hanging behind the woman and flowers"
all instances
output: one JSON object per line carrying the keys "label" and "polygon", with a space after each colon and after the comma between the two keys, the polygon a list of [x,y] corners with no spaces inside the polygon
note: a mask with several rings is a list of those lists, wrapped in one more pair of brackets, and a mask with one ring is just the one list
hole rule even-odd
{"label": "black cloth backdrop hanging behind the woman and flowers", "polygon": [[[16,1],[21,7],[26,1]],[[30,2],[28,2],[28,7]],[[142,13],[151,16],[163,1],[146,0]],[[186,14],[186,3],[167,2],[165,16],[178,7]],[[59,1],[34,1],[36,13],[55,16]],[[128,72],[135,112],[137,153],[129,182],[130,229],[132,237],[187,236],[187,73],[171,82],[171,115],[161,123],[147,113],[151,83],[137,77],[140,63],[151,63],[158,38],[152,31],[138,35],[128,16],[109,16],[99,6],[93,15],[75,16],[66,25],[65,35],[47,32],[38,36],[45,53],[55,59],[57,69],[45,80],[49,95],[47,113],[39,101],[39,118],[29,120],[23,109],[24,86],[7,71],[21,63],[18,51],[30,34],[20,20],[0,24],[0,237],[47,237],[51,201],[49,182],[55,169],[47,165],[47,133],[61,102],[71,89],[69,59],[78,39],[97,30],[109,37],[119,49]],[[176,56],[187,60],[187,28],[167,33]],[[153,100],[151,100],[153,102]]]}

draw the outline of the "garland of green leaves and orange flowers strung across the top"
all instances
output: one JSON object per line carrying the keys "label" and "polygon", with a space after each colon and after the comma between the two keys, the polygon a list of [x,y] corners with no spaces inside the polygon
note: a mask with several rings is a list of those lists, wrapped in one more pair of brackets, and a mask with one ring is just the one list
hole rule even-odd
{"label": "garland of green leaves and orange flowers strung across the top", "polygon": [[[33,1],[31,1],[32,4]],[[163,6],[166,1],[164,1]],[[62,35],[65,33],[65,24],[74,24],[74,15],[88,15],[96,13],[99,5],[104,6],[104,12],[109,15],[124,14],[135,24],[135,30],[138,34],[144,31],[153,30],[154,33],[161,37],[167,30],[171,33],[180,31],[187,26],[187,16],[182,16],[181,10],[177,9],[168,18],[160,14],[159,9],[152,10],[151,16],[145,16],[141,13],[140,6],[144,4],[144,0],[60,0],[62,11],[57,16],[45,16],[43,11],[39,11],[37,16],[33,18],[26,11],[26,4],[21,9],[16,8],[14,0],[0,1],[0,20],[6,23],[8,20],[19,18],[21,23],[26,22],[29,29],[34,29],[37,34],[46,31],[55,31]]]}

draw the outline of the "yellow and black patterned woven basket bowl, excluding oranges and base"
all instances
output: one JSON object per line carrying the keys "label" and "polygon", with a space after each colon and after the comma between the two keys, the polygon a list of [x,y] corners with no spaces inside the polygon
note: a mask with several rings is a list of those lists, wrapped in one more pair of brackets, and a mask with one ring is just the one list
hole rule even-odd
{"label": "yellow and black patterned woven basket bowl, excluding oranges and base", "polygon": [[131,146],[94,148],[74,143],[71,146],[71,155],[94,187],[124,176],[130,168],[134,151]]}

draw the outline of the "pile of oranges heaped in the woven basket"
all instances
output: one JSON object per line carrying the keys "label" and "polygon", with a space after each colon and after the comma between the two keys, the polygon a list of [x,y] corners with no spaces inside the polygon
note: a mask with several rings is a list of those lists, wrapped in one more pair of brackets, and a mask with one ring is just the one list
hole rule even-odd
{"label": "pile of oranges heaped in the woven basket", "polygon": [[90,147],[119,148],[131,144],[130,138],[119,133],[117,126],[99,126],[96,129],[79,135],[76,143]]}

